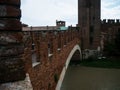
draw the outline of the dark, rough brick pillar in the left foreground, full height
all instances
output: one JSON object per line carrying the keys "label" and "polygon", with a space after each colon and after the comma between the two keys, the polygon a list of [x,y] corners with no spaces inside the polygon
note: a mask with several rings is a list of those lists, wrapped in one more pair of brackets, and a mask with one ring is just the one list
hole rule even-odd
{"label": "dark, rough brick pillar in the left foreground, full height", "polygon": [[25,78],[20,0],[0,0],[0,83]]}

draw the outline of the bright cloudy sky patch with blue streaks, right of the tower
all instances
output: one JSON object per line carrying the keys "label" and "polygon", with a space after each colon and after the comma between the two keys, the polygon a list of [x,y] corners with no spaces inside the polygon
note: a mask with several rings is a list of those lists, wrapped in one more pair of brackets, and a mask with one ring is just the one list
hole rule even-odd
{"label": "bright cloudy sky patch with blue streaks, right of the tower", "polygon": [[120,19],[120,0],[102,0],[102,19]]}

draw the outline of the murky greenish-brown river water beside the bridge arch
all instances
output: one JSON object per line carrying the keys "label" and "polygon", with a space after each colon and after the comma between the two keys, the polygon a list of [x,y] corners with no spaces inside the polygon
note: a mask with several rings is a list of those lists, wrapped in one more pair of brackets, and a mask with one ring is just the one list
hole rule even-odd
{"label": "murky greenish-brown river water beside the bridge arch", "polygon": [[120,90],[120,69],[69,66],[61,90]]}

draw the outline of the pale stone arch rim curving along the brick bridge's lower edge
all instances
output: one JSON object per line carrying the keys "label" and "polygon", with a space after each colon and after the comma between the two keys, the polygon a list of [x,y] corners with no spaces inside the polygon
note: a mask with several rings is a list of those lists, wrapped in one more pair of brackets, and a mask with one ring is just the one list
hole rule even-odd
{"label": "pale stone arch rim curving along the brick bridge's lower edge", "polygon": [[71,50],[70,54],[68,55],[68,58],[66,60],[66,63],[65,63],[65,66],[63,67],[63,70],[61,72],[61,75],[60,75],[60,78],[58,80],[58,83],[56,85],[56,89],[55,90],[60,90],[61,88],[61,85],[62,85],[62,82],[63,82],[63,79],[64,79],[64,76],[65,76],[65,73],[67,71],[67,68],[69,66],[69,63],[71,61],[71,59],[74,58],[74,55],[77,55],[78,56],[78,53],[80,54],[79,55],[79,59],[82,60],[82,54],[81,54],[81,48],[80,46],[77,44],[73,47],[73,49]]}

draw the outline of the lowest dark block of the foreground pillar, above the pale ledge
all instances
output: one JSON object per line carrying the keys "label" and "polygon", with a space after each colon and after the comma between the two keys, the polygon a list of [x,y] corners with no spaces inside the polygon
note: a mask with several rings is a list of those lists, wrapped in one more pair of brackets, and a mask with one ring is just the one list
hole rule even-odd
{"label": "lowest dark block of the foreground pillar, above the pale ledge", "polygon": [[19,56],[0,58],[0,83],[25,79],[24,62]]}

